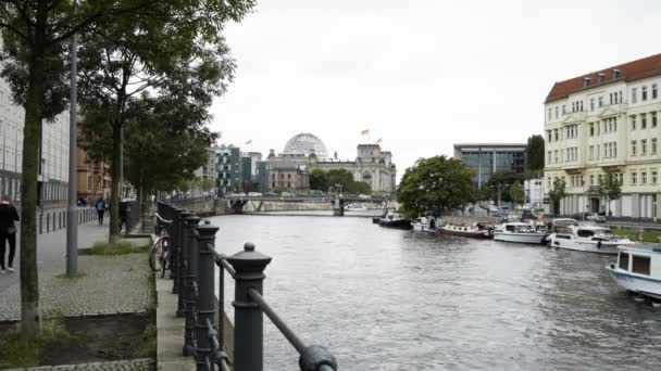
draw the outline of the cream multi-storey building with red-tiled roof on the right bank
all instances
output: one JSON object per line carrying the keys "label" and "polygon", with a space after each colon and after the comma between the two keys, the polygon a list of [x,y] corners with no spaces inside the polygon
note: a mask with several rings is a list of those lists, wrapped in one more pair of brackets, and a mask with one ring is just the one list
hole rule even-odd
{"label": "cream multi-storey building with red-tiled roof on the right bank", "polygon": [[614,216],[658,216],[660,85],[661,54],[556,82],[545,102],[545,186],[548,196],[564,180],[561,214],[608,210],[598,191],[611,172],[622,182]]}

